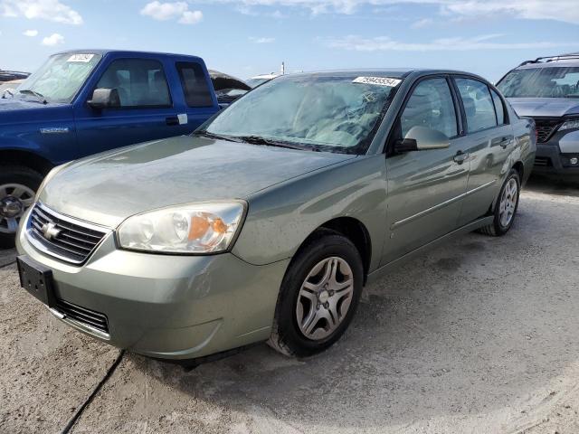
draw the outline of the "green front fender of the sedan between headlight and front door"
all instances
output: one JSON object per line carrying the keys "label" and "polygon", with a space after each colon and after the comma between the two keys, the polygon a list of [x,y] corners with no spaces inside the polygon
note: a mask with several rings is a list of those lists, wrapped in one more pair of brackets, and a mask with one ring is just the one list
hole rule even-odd
{"label": "green front fender of the sedan between headlight and front door", "polygon": [[358,156],[253,194],[233,254],[254,265],[291,258],[323,223],[351,217],[365,225],[372,245],[370,270],[384,245],[384,155]]}

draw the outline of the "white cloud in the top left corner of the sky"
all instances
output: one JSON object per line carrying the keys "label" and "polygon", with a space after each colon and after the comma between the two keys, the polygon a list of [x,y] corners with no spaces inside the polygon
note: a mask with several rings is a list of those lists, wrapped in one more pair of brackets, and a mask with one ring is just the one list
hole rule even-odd
{"label": "white cloud in the top left corner of the sky", "polygon": [[59,0],[0,0],[0,14],[43,19],[62,24],[82,24],[81,14]]}

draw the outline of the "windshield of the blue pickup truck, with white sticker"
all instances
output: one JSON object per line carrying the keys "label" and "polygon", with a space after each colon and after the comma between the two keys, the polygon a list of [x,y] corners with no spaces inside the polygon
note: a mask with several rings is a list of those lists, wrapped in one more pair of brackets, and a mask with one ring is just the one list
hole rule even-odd
{"label": "windshield of the blue pickup truck, with white sticker", "polygon": [[24,81],[15,97],[70,103],[100,58],[100,54],[71,52],[52,56]]}

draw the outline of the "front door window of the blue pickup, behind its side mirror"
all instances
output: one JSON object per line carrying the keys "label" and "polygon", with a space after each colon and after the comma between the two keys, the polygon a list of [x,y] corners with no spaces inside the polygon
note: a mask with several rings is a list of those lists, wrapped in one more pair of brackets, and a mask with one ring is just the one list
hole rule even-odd
{"label": "front door window of the blue pickup, behind its side mirror", "polygon": [[119,59],[112,61],[97,88],[119,91],[120,107],[125,109],[171,107],[165,71],[159,61]]}

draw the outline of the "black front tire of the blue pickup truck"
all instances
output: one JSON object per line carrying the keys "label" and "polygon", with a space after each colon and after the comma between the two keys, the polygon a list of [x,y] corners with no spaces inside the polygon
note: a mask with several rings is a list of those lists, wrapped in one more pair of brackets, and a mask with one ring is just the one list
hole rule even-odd
{"label": "black front tire of the blue pickup truck", "polygon": [[[20,221],[22,213],[16,217],[8,218],[3,210],[3,203],[6,203],[8,197],[18,197],[18,200],[25,203],[27,208],[33,203],[34,193],[43,182],[43,175],[25,166],[21,165],[0,165],[0,248],[9,249],[14,247],[15,231],[12,226],[15,222]],[[18,186],[18,190],[15,190]],[[13,193],[16,194],[13,194]],[[23,193],[20,193],[23,192]],[[4,201],[4,202],[3,202]]]}

